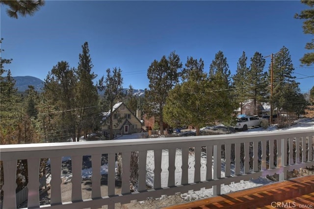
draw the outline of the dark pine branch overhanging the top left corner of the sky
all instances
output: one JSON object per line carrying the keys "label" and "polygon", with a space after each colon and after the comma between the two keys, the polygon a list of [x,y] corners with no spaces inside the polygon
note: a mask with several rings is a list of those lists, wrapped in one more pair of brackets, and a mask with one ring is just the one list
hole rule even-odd
{"label": "dark pine branch overhanging the top left corner of the sky", "polygon": [[6,13],[15,19],[18,19],[18,14],[22,17],[33,16],[41,6],[45,5],[44,0],[0,0],[0,3],[9,7]]}

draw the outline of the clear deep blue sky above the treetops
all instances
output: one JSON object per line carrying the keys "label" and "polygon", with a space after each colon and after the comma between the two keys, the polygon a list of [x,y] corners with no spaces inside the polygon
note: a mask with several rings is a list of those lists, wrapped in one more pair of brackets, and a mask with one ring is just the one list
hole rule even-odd
{"label": "clear deep blue sky above the treetops", "polygon": [[[147,69],[154,59],[176,51],[202,58],[205,71],[219,50],[232,74],[245,51],[263,56],[286,46],[303,93],[314,85],[314,66],[301,67],[310,35],[295,13],[308,8],[300,1],[52,1],[32,17],[11,19],[1,5],[3,58],[12,58],[13,76],[44,80],[58,61],[78,66],[87,41],[97,80],[107,68],[120,67],[124,86],[148,88]],[[270,57],[266,58],[265,71]]]}

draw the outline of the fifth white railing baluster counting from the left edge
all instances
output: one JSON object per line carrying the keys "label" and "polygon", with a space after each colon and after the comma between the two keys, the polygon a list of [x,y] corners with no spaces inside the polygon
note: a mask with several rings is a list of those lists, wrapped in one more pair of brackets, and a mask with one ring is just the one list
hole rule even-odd
{"label": "fifth white railing baluster counting from the left edge", "polygon": [[100,190],[100,180],[102,175],[100,173],[100,167],[102,165],[102,155],[92,155],[92,198],[102,197]]}

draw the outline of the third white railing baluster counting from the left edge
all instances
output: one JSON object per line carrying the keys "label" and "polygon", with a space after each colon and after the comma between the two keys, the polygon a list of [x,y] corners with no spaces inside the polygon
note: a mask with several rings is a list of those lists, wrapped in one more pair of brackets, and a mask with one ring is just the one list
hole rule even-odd
{"label": "third white railing baluster counting from the left edge", "polygon": [[62,157],[51,157],[50,166],[51,166],[51,198],[50,204],[59,204],[61,200],[61,162]]}

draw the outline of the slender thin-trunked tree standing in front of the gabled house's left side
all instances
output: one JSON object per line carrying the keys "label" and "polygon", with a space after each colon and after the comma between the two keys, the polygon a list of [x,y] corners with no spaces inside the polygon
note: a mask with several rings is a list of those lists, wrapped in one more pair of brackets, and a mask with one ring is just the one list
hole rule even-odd
{"label": "slender thin-trunked tree standing in front of the gabled house's left side", "polygon": [[102,76],[98,81],[98,89],[104,92],[104,110],[109,109],[109,139],[113,139],[113,105],[125,97],[123,91],[123,78],[120,68],[113,68],[112,72],[108,68],[106,77]]}

